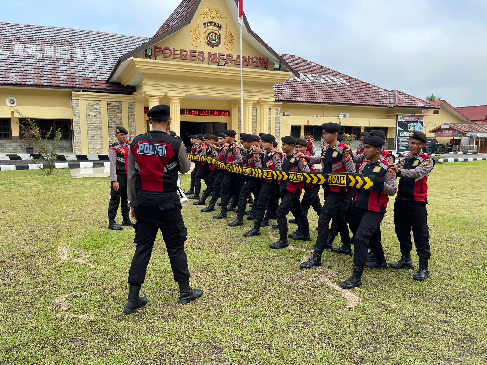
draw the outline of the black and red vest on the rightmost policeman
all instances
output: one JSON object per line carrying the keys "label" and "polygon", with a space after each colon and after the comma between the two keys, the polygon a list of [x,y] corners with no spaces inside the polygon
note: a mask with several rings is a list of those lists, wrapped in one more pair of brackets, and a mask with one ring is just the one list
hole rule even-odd
{"label": "black and red vest on the rightmost policeman", "polygon": [[[425,153],[422,153],[418,156],[413,158],[406,156],[402,156],[398,163],[397,167],[402,168],[405,170],[411,170],[416,168],[420,164],[424,162],[424,160],[430,158]],[[431,159],[434,166],[434,159]],[[431,170],[430,170],[431,171]],[[401,179],[399,180],[399,186],[397,187],[397,196],[396,199],[400,200],[409,200],[409,201],[424,201],[428,202],[427,195],[428,195],[428,175],[429,173],[420,176],[418,178],[403,178],[401,175]]]}

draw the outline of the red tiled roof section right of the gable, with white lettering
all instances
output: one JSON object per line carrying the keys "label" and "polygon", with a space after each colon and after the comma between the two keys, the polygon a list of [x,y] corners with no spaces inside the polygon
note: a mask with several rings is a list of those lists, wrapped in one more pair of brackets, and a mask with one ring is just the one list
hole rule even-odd
{"label": "red tiled roof section right of the gable, with white lettering", "polygon": [[402,91],[379,88],[296,55],[281,57],[300,76],[274,85],[278,101],[439,109]]}

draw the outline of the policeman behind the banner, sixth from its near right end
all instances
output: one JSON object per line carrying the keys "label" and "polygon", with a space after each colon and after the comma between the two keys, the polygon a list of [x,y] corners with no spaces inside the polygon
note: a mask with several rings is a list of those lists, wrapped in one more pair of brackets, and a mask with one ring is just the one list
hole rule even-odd
{"label": "policeman behind the banner, sixth from its near right end", "polygon": [[[227,164],[242,164],[243,158],[240,153],[240,148],[235,143],[235,136],[237,132],[233,129],[225,130],[225,141],[228,147],[225,150],[223,161]],[[233,172],[226,171],[223,176],[222,183],[220,184],[220,196],[222,199],[222,211],[220,214],[213,216],[214,219],[225,219],[227,218],[226,210],[228,205],[228,199],[231,195],[234,195],[238,200],[240,192],[237,186],[237,175]],[[213,197],[211,199],[213,201]],[[215,201],[216,202],[216,201]]]}

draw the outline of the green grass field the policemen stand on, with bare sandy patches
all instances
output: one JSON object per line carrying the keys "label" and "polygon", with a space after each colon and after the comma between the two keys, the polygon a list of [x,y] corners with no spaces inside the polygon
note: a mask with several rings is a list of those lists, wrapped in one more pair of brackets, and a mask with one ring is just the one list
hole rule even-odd
{"label": "green grass field the policemen stand on, with bare sandy patches", "polygon": [[[127,316],[134,232],[107,229],[109,179],[0,172],[0,364],[487,364],[486,179],[486,162],[433,169],[431,279],[366,269],[345,293],[336,285],[351,257],[326,251],[329,265],[299,267],[316,214],[313,242],[271,250],[270,227],[245,238],[251,221],[227,227],[235,213],[215,220],[189,205],[191,282],[204,296],[176,304],[159,235],[141,291],[149,304]],[[400,257],[392,205],[388,262]]]}

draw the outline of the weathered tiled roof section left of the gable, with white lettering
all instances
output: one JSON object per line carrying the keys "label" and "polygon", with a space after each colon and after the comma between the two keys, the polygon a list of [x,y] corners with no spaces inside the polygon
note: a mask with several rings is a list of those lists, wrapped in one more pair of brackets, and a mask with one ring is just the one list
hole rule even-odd
{"label": "weathered tiled roof section left of the gable, with white lettering", "polygon": [[120,55],[148,39],[0,22],[0,84],[131,93],[106,79]]}

